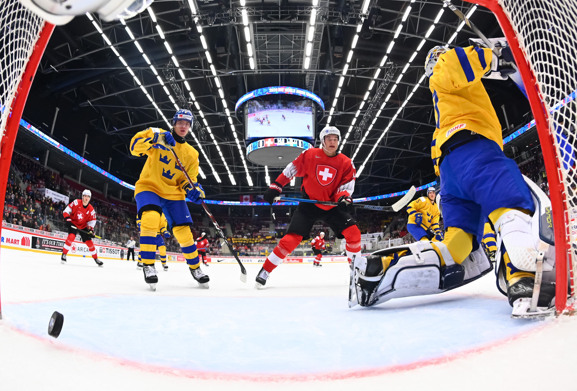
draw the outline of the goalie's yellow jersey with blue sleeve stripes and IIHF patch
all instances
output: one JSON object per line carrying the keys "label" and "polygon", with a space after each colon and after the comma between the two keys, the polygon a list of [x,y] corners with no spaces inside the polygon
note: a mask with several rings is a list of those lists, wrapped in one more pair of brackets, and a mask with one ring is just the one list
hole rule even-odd
{"label": "goalie's yellow jersey with blue sleeve stripes and IIHF patch", "polygon": [[441,54],[433,68],[429,88],[433,93],[436,129],[431,156],[437,175],[441,146],[464,129],[495,141],[503,149],[501,124],[481,83],[492,59],[490,49],[455,47]]}

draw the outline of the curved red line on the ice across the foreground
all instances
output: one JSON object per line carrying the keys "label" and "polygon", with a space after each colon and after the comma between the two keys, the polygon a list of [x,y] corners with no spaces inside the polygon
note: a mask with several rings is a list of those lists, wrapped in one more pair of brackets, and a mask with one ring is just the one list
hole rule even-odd
{"label": "curved red line on the ice across the foreground", "polygon": [[[96,295],[99,296],[99,295]],[[166,366],[158,366],[154,364],[144,364],[132,360],[121,359],[117,357],[113,357],[110,355],[105,355],[104,353],[97,353],[93,351],[89,351],[87,349],[75,348],[69,345],[63,344],[61,341],[56,340],[49,340],[45,337],[37,336],[36,334],[26,332],[24,330],[20,330],[17,327],[7,325],[9,329],[13,330],[14,332],[24,334],[26,336],[35,338],[36,340],[42,341],[45,344],[50,344],[52,347],[65,352],[71,353],[81,353],[88,358],[104,361],[104,362],[114,362],[118,365],[130,367],[135,370],[143,370],[145,367],[145,371],[147,373],[153,372],[162,375],[173,375],[175,377],[185,377],[191,379],[202,379],[202,380],[221,380],[221,381],[252,381],[252,382],[307,382],[307,381],[335,381],[335,380],[345,380],[345,379],[354,379],[354,378],[364,378],[364,377],[372,377],[372,376],[379,376],[385,375],[389,373],[401,372],[401,371],[410,371],[415,370],[421,367],[432,366],[432,365],[439,365],[449,363],[459,359],[465,359],[469,356],[473,356],[475,354],[480,354],[490,349],[499,347],[503,344],[506,344],[511,341],[519,340],[520,338],[526,338],[531,336],[532,334],[539,332],[540,330],[545,329],[547,325],[542,325],[538,327],[534,327],[531,330],[527,330],[526,332],[522,332],[516,334],[515,336],[503,338],[501,340],[492,341],[489,344],[486,344],[482,347],[467,349],[462,352],[452,353],[450,355],[440,356],[433,359],[427,360],[420,360],[415,361],[413,363],[407,364],[397,364],[397,365],[388,365],[383,367],[374,367],[374,368],[367,368],[364,370],[341,370],[341,371],[333,371],[333,372],[324,372],[324,373],[310,373],[310,374],[268,374],[268,373],[251,373],[251,374],[238,374],[238,373],[226,373],[226,372],[215,372],[215,371],[194,371],[194,370],[186,370],[186,369],[179,369],[173,367],[166,367]]]}

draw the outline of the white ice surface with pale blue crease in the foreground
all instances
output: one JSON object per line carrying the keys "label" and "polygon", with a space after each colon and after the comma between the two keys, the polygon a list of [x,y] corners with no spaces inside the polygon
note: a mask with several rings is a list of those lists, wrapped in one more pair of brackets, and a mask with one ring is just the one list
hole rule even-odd
{"label": "white ice surface with pale blue crease in the foreground", "polygon": [[511,319],[493,274],[349,309],[346,263],[281,265],[257,291],[259,265],[246,265],[246,284],[238,265],[204,268],[206,290],[169,262],[152,292],[132,260],[0,257],[5,390],[577,389],[576,319]]}

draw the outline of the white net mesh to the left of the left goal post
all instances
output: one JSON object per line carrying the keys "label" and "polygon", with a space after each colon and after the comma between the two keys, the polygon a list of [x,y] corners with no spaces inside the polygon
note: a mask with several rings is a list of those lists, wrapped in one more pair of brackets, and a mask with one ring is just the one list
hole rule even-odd
{"label": "white net mesh to the left of the left goal post", "polygon": [[44,20],[17,0],[0,0],[0,141],[18,83],[43,27]]}

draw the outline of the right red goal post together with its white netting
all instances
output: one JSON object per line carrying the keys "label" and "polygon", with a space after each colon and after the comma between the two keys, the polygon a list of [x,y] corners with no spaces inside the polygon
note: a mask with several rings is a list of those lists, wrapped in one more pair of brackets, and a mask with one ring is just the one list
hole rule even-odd
{"label": "right red goal post together with its white netting", "polygon": [[577,276],[577,2],[470,2],[497,17],[527,90],[552,204],[555,306],[558,314],[572,313]]}

